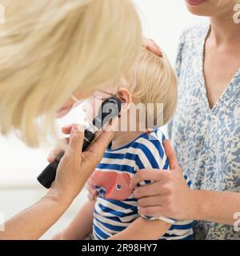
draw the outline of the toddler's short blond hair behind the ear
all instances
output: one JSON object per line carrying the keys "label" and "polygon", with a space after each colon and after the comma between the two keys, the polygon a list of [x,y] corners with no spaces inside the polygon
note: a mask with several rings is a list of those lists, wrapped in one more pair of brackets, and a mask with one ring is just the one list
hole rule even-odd
{"label": "toddler's short blond hair behind the ear", "polygon": [[121,86],[130,91],[134,104],[154,104],[154,113],[151,113],[154,122],[157,121],[157,104],[163,104],[162,123],[157,126],[165,125],[174,114],[178,79],[166,54],[159,57],[142,48],[129,72],[118,81],[118,88]]}

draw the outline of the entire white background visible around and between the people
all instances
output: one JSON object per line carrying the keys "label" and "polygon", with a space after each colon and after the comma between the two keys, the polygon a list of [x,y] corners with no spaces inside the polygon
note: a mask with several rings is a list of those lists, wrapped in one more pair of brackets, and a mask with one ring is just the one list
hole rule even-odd
{"label": "entire white background visible around and between the people", "polygon": [[[194,23],[204,22],[205,18],[189,14],[184,0],[135,0],[134,2],[142,18],[144,35],[153,38],[174,64],[178,38],[182,30]],[[70,118],[62,120],[61,124],[70,120],[76,122],[76,117],[80,116],[76,111],[78,110],[75,110]],[[49,150],[50,146],[38,150],[29,149],[14,135],[8,138],[0,136],[0,213],[4,214],[5,218],[36,202],[45,193],[36,181],[36,177],[46,166]],[[50,238],[55,230],[61,229],[70,221],[71,216],[84,201],[86,197],[84,194],[86,191],[83,191],[74,206],[43,238]]]}

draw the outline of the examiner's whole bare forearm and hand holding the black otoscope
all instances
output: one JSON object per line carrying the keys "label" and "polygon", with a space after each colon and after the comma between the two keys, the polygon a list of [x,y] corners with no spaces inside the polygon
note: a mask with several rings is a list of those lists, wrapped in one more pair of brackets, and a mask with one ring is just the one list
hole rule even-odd
{"label": "examiner's whole bare forearm and hand holding the black otoscope", "polygon": [[66,153],[58,165],[56,179],[44,198],[5,223],[0,239],[38,239],[58,221],[82,190],[90,174],[112,138],[112,131],[103,131],[85,152],[82,152],[83,133],[79,126],[71,130]]}

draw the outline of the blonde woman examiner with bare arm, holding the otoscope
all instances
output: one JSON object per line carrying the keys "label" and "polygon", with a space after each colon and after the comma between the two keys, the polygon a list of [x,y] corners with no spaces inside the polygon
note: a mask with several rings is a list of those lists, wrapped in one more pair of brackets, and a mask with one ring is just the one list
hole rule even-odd
{"label": "blonde woman examiner with bare arm, holding the otoscope", "polygon": [[[141,25],[130,0],[3,3],[0,130],[6,134],[14,128],[36,146],[53,130],[56,111],[73,105],[70,94],[84,98],[132,65],[141,45]],[[60,218],[101,160],[110,133],[99,139],[82,154],[81,128],[73,127],[53,186],[34,206],[7,221],[0,239],[39,238]]]}

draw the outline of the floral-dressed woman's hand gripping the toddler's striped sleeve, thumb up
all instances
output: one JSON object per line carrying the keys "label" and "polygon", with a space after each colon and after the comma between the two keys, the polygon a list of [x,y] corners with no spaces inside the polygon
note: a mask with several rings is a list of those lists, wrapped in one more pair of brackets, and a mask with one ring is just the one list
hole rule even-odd
{"label": "floral-dressed woman's hand gripping the toddler's striped sleeve, thumb up", "polygon": [[[138,198],[138,210],[150,216],[166,216],[175,219],[193,219],[198,210],[195,191],[191,190],[183,177],[182,170],[169,141],[163,142],[170,170],[140,170],[132,178],[134,197]],[[139,182],[154,183],[137,187]]]}

